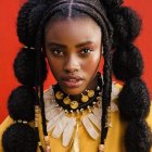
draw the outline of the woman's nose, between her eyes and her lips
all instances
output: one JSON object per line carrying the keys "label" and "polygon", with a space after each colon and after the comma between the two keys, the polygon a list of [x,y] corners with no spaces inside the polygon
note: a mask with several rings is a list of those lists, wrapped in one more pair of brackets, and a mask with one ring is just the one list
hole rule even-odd
{"label": "woman's nose, between her eyes and her lips", "polygon": [[74,73],[80,69],[80,64],[75,55],[66,56],[64,62],[64,72]]}

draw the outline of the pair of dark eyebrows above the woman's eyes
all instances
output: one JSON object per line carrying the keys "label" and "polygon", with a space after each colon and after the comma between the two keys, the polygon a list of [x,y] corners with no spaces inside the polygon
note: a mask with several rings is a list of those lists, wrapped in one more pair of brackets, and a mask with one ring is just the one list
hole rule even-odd
{"label": "pair of dark eyebrows above the woman's eyes", "polygon": [[[87,46],[87,45],[92,45],[92,43],[93,43],[93,41],[85,41],[85,42],[76,45],[75,47],[80,48],[80,47],[84,47],[84,46]],[[49,42],[48,46],[49,47],[54,46],[54,47],[67,48],[65,45],[58,43],[58,42]]]}

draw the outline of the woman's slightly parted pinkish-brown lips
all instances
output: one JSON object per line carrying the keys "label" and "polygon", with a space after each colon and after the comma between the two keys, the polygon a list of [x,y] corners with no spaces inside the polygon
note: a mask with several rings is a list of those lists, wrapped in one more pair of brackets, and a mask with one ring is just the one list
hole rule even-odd
{"label": "woman's slightly parted pinkish-brown lips", "polygon": [[85,79],[80,76],[63,76],[61,80],[67,88],[78,88]]}

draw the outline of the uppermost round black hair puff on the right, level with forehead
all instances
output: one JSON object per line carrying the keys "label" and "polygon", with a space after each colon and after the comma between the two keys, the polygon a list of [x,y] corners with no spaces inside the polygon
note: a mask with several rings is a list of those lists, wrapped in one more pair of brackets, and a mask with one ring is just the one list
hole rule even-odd
{"label": "uppermost round black hair puff on the right, level with forehead", "polygon": [[132,9],[122,7],[109,17],[114,27],[113,47],[132,42],[139,36],[142,22]]}

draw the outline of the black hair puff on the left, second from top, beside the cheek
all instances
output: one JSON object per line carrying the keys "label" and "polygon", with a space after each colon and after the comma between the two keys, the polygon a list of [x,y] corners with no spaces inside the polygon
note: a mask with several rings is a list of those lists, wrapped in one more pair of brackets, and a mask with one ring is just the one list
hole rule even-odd
{"label": "black hair puff on the left, second from top, beside the cheek", "polygon": [[[20,83],[25,86],[35,86],[36,79],[36,50],[23,48],[14,60],[14,73]],[[47,63],[45,55],[40,52],[41,62],[41,80],[43,83],[47,78]]]}

